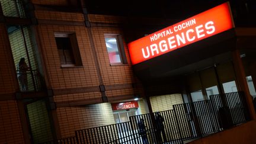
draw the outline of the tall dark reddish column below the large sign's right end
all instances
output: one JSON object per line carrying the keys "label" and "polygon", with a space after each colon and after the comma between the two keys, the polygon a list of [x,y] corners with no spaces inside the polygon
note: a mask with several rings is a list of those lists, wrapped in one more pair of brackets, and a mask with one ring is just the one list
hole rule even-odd
{"label": "tall dark reddish column below the large sign's right end", "polygon": [[236,79],[238,81],[239,89],[241,91],[244,91],[244,93],[245,93],[245,100],[247,101],[248,110],[249,110],[251,119],[256,120],[254,105],[252,103],[252,96],[249,93],[249,88],[248,88],[248,84],[247,84],[247,80],[246,80],[246,76],[245,76],[245,72],[244,72],[244,66],[242,65],[242,60],[240,57],[239,50],[237,50],[237,49],[234,50],[232,52],[232,57],[233,57],[233,65],[234,65]]}

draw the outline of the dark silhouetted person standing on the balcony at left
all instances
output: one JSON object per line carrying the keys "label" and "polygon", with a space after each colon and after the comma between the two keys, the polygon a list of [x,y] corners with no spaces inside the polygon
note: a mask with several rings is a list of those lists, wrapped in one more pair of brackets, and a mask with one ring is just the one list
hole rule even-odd
{"label": "dark silhouetted person standing on the balcony at left", "polygon": [[30,68],[25,63],[25,58],[22,57],[17,66],[18,81],[20,82],[21,91],[28,91],[27,71]]}

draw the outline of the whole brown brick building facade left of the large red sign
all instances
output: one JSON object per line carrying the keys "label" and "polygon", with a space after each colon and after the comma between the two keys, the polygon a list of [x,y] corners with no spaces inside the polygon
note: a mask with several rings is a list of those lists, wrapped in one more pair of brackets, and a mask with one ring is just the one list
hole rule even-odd
{"label": "whole brown brick building facade left of the large red sign", "polygon": [[[22,57],[27,56],[23,33],[20,30],[8,35],[8,24],[1,24],[0,121],[4,125],[0,125],[0,143],[32,143],[30,137],[39,143],[75,136],[75,130],[114,124],[111,103],[145,97],[142,83],[133,73],[127,43],[144,36],[144,30],[150,33],[151,28],[130,28],[124,17],[84,15],[81,11],[63,12],[43,6],[78,7],[70,1],[31,2],[38,24],[28,24],[23,32],[27,34],[25,38],[31,40],[26,41],[27,47],[36,49],[29,55],[36,53],[33,59],[39,64],[31,62],[31,65],[33,69],[38,65],[43,72],[46,89],[30,93],[18,90],[15,66],[21,53]],[[85,26],[85,16],[91,27]],[[156,23],[156,20],[146,21]],[[55,33],[75,33],[82,66],[62,67]],[[104,34],[121,35],[126,64],[110,65]],[[145,99],[141,99],[139,105],[142,114],[149,112]]]}

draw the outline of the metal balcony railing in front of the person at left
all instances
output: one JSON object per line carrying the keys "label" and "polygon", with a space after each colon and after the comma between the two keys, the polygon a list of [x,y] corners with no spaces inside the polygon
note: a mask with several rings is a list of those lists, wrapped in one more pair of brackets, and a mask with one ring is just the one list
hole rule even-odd
{"label": "metal balcony railing in front of the person at left", "polygon": [[[17,71],[17,75],[21,75],[21,74],[23,74],[23,73],[19,73]],[[23,91],[23,92],[40,91],[44,88],[44,82],[42,80],[40,73],[37,70],[28,71],[27,73],[25,73],[25,75],[27,75],[27,82],[26,82],[27,84],[25,85],[26,88],[24,88],[24,86],[22,86],[22,84],[18,78],[18,83],[20,85],[20,91]]]}

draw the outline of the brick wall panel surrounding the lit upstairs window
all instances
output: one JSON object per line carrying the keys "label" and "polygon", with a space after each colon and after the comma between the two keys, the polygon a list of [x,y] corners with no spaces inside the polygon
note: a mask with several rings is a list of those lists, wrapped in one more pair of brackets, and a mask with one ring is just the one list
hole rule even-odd
{"label": "brick wall panel surrounding the lit upstairs window", "polygon": [[[104,20],[104,19],[103,19]],[[105,21],[103,21],[105,23]],[[98,55],[98,61],[100,63],[100,69],[103,75],[103,81],[105,85],[124,84],[134,81],[132,72],[132,66],[130,65],[130,57],[128,52],[127,43],[123,40],[124,52],[127,57],[128,65],[110,66],[110,60],[108,59],[107,47],[105,45],[104,34],[123,34],[119,28],[92,28],[93,39],[95,43],[95,49]]]}

